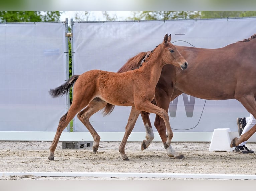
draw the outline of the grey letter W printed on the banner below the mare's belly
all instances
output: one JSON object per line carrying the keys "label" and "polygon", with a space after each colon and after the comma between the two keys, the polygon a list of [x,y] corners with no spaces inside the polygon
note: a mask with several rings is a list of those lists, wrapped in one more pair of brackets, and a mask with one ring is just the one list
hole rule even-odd
{"label": "grey letter W printed on the banner below the mare's belly", "polygon": [[[193,96],[190,96],[190,99],[188,101],[188,95],[184,94],[184,93],[182,94],[182,97],[183,97],[183,101],[184,101],[186,116],[193,117],[193,111],[194,111],[196,98]],[[176,117],[178,99],[179,99],[179,97],[176,97],[172,102],[170,102],[169,112],[170,112],[171,117]]]}

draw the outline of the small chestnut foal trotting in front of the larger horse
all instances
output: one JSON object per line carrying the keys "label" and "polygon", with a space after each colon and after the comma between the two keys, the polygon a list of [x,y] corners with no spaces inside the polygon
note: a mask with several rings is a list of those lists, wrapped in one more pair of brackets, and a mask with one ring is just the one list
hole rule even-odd
{"label": "small chestnut foal trotting in front of the larger horse", "polygon": [[[170,157],[182,158],[181,153],[174,151],[170,145],[173,133],[169,123],[168,113],[151,103],[155,96],[155,87],[160,78],[164,65],[171,64],[180,70],[186,69],[187,61],[170,43],[171,36],[166,34],[142,67],[124,73],[90,70],[81,75],[73,75],[66,83],[51,89],[53,97],[65,95],[70,87],[73,88],[73,101],[68,112],[60,118],[59,125],[50,146],[49,160],[54,160],[54,151],[60,135],[68,123],[78,113],[78,118],[86,126],[94,139],[93,151],[99,148],[100,136],[89,122],[95,112],[107,103],[119,106],[132,106],[125,134],[119,147],[123,160],[129,160],[125,154],[125,144],[141,111],[155,113],[163,118],[167,130],[164,142]],[[89,104],[89,105],[88,105]],[[83,109],[83,110],[82,110]],[[82,111],[81,111],[82,110]]]}

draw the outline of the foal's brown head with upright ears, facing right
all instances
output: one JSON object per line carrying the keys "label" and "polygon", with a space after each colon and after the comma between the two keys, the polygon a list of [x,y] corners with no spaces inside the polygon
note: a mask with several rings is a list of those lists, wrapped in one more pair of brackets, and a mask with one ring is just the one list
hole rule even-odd
{"label": "foal's brown head with upright ears, facing right", "polygon": [[180,67],[182,70],[186,69],[188,66],[188,63],[186,59],[181,56],[178,49],[170,43],[171,41],[171,35],[166,34],[164,36],[163,42],[162,42],[162,59],[166,64],[172,64],[174,66]]}

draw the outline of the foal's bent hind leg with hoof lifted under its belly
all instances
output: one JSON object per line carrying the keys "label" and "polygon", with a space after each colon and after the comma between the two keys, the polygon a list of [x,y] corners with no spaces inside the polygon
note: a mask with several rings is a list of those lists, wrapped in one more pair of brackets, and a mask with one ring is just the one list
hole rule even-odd
{"label": "foal's bent hind leg with hoof lifted under its belly", "polygon": [[94,143],[93,143],[93,152],[97,152],[100,144],[100,136],[95,131],[93,126],[91,125],[89,118],[96,113],[97,111],[101,110],[103,107],[105,107],[107,103],[102,101],[99,98],[93,99],[88,106],[80,111],[77,115],[78,119],[85,125],[85,127],[88,129],[88,131],[91,133]]}

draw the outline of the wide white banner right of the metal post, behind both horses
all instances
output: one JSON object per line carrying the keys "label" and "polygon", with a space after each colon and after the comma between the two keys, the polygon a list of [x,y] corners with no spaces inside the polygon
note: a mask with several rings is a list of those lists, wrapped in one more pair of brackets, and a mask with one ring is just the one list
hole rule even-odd
{"label": "wide white banner right of the metal post, behind both horses", "polygon": [[[220,48],[251,37],[256,33],[255,22],[256,18],[75,22],[74,74],[92,69],[116,72],[129,58],[154,49],[166,33],[172,35],[174,45]],[[102,117],[98,112],[90,118],[90,122],[98,132],[123,132],[129,112],[130,107],[116,106],[109,116]],[[212,132],[215,128],[237,131],[236,118],[249,116],[236,100],[202,100],[186,94],[170,104],[169,115],[174,132]],[[152,124],[154,118],[155,115],[151,114]],[[87,131],[77,117],[74,130]],[[141,117],[133,131],[145,131]]]}

